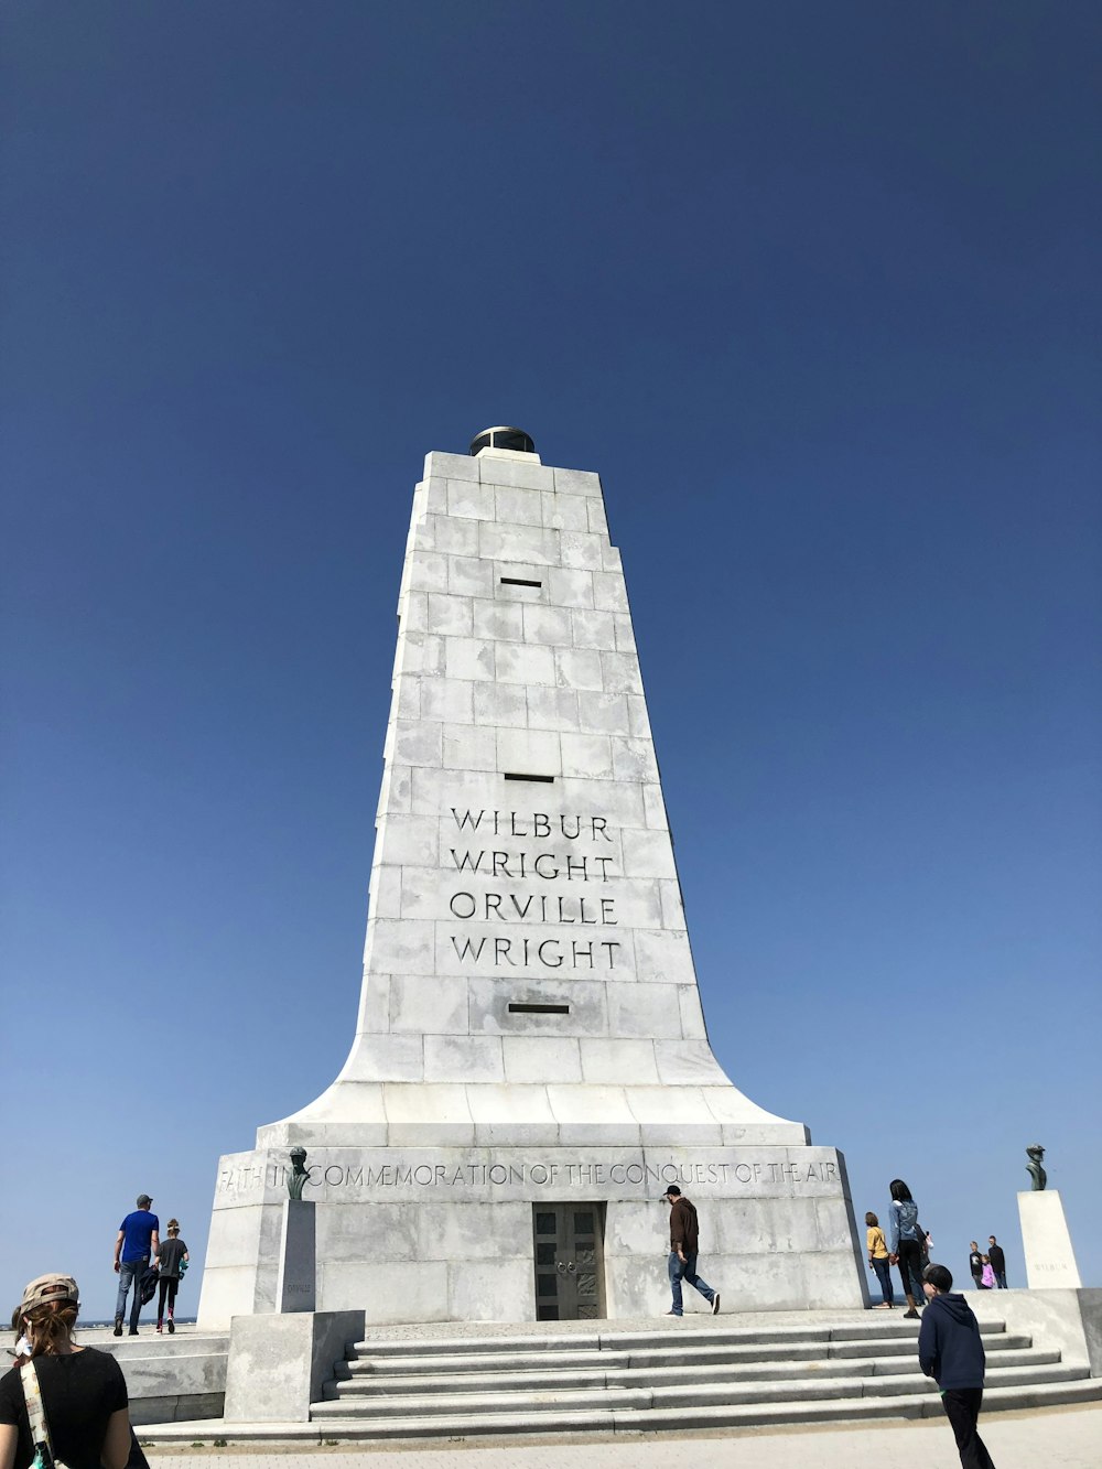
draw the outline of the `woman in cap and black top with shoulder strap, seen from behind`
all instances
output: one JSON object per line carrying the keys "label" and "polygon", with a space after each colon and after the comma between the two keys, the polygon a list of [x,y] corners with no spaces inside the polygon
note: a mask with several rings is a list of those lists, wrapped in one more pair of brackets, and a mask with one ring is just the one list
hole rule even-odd
{"label": "woman in cap and black top with shoulder strap, seen from behind", "polygon": [[[0,1469],[35,1457],[28,1393],[41,1396],[53,1456],[68,1469],[125,1469],[131,1453],[126,1382],[115,1357],[78,1347],[79,1291],[72,1275],[40,1275],[19,1304],[29,1363],[0,1378]],[[32,1376],[29,1376],[32,1374]]]}

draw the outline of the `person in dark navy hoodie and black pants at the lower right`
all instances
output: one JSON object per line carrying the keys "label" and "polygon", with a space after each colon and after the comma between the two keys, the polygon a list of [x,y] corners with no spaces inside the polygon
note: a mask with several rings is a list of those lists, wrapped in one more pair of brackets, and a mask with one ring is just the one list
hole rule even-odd
{"label": "person in dark navy hoodie and black pants at the lower right", "polygon": [[952,1274],[945,1265],[926,1266],[923,1291],[927,1307],[918,1329],[918,1366],[942,1390],[962,1469],[995,1469],[976,1431],[986,1366],[979,1322],[964,1296],[949,1294]]}

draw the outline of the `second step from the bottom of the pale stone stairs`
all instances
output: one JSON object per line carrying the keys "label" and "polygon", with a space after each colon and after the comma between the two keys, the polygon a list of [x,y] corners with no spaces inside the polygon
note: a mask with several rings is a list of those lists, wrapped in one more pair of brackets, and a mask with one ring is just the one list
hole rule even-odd
{"label": "second step from the bottom of the pale stone stairs", "polygon": [[[1087,1378],[1086,1366],[1029,1365],[989,1372],[995,1387],[1033,1387],[1040,1382],[1074,1382]],[[529,1388],[526,1391],[491,1391],[450,1394],[425,1393],[385,1400],[386,1412],[401,1418],[451,1418],[455,1415],[482,1413],[545,1413],[557,1409],[636,1409],[651,1410],[680,1403],[685,1407],[721,1406],[724,1403],[783,1403],[810,1401],[814,1398],[864,1398],[901,1397],[907,1394],[936,1393],[929,1378],[920,1372],[893,1376],[836,1378],[807,1374],[789,1378],[773,1378],[761,1382],[696,1382],[671,1387],[654,1385],[610,1385],[588,1388]],[[348,1398],[317,1403],[311,1407],[314,1419],[361,1416],[375,1418],[383,1403],[375,1398]]]}

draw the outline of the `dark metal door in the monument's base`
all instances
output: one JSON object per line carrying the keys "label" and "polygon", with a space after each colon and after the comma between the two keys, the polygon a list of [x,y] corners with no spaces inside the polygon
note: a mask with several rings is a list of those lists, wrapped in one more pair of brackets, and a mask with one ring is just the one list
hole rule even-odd
{"label": "dark metal door in the monument's base", "polygon": [[536,1321],[604,1316],[604,1205],[532,1205]]}

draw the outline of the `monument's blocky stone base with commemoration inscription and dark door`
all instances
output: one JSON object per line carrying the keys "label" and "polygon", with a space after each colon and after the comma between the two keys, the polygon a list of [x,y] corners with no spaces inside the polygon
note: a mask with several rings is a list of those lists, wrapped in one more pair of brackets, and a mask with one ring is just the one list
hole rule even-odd
{"label": "monument's blocky stone base with commemoration inscription and dark door", "polygon": [[[278,1309],[287,1171],[282,1147],[220,1161],[201,1329]],[[832,1147],[325,1147],[306,1185],[316,1309],[367,1325],[660,1316],[670,1184],[699,1210],[699,1269],[726,1309],[868,1303]]]}

